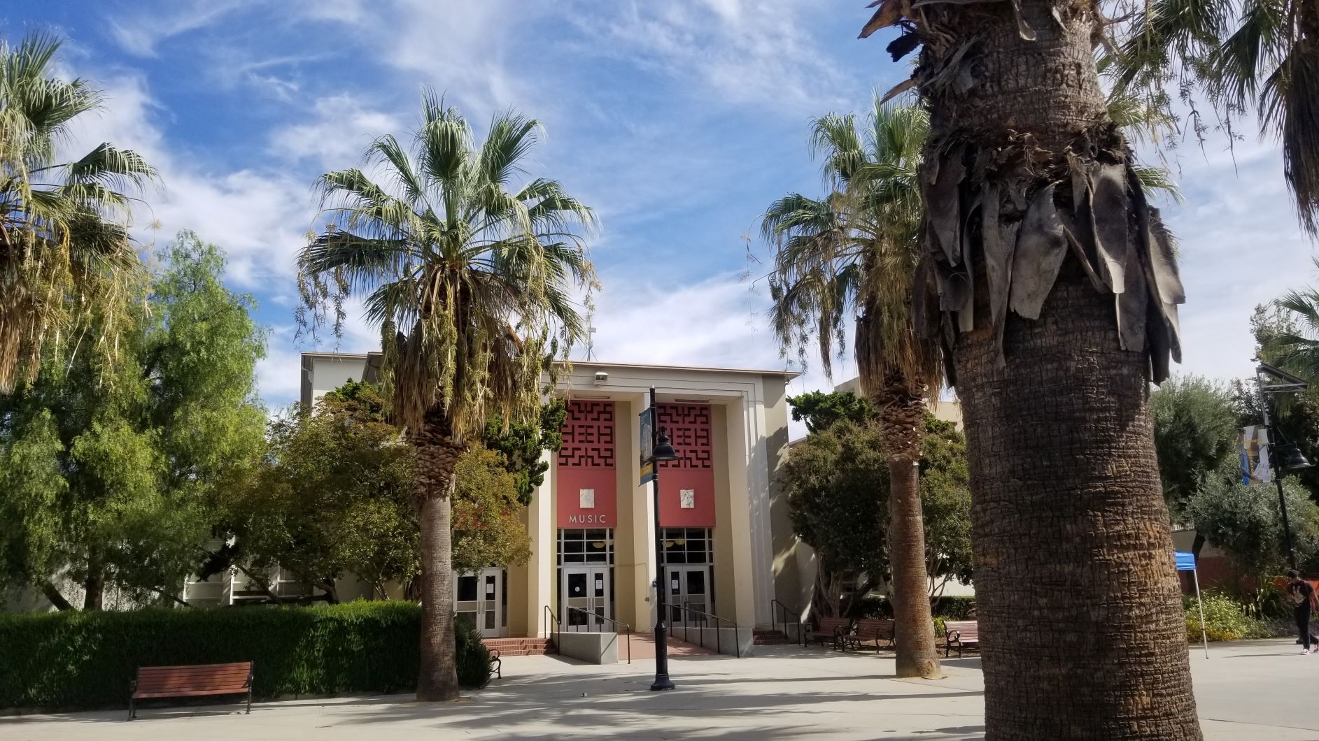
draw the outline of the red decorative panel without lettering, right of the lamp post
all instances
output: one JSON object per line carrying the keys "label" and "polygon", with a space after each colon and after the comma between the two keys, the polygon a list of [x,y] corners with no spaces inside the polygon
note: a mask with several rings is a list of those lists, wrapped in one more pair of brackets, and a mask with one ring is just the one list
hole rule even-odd
{"label": "red decorative panel without lettering, right of the lamp post", "polygon": [[[679,456],[678,460],[660,464],[660,525],[714,527],[715,464],[710,405],[661,403],[656,409],[656,417]],[[686,502],[683,490],[690,492]]]}

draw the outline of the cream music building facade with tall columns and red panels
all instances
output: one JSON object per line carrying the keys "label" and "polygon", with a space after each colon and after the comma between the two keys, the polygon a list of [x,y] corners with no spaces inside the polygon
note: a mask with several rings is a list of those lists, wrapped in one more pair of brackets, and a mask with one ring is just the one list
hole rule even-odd
{"label": "cream music building facade with tall columns and red panels", "polygon": [[[302,401],[375,380],[379,367],[377,353],[303,353]],[[670,620],[704,613],[749,629],[774,620],[772,600],[806,608],[815,564],[776,480],[794,372],[596,361],[566,370],[553,392],[567,403],[563,446],[546,454],[550,469],[522,513],[532,556],[456,575],[463,620],[489,637],[542,634],[555,620],[563,630],[608,630],[603,617],[637,632],[654,625],[656,512],[652,485],[638,484],[652,386],[679,454],[658,469]]]}

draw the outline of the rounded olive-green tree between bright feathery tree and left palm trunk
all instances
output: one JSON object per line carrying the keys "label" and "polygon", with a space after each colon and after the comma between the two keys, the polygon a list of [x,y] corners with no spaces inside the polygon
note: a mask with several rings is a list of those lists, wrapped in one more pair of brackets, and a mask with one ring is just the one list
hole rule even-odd
{"label": "rounded olive-green tree between bright feathery tree and left palm trunk", "polygon": [[413,475],[413,448],[384,421],[379,388],[350,380],[314,413],[270,422],[265,460],[224,490],[228,545],[207,571],[236,566],[274,603],[295,601],[273,591],[276,567],[330,603],[346,572],[388,599],[386,583],[418,574]]}

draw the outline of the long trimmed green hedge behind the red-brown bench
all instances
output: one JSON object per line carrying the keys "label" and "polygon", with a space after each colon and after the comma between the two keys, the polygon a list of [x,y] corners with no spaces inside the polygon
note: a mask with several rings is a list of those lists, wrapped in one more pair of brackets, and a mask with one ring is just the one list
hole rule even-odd
{"label": "long trimmed green hedge behind the red-brown bench", "polygon": [[[421,608],[144,609],[0,614],[0,707],[127,705],[138,666],[255,661],[253,695],[406,692]],[[489,654],[459,628],[459,682],[484,686]]]}

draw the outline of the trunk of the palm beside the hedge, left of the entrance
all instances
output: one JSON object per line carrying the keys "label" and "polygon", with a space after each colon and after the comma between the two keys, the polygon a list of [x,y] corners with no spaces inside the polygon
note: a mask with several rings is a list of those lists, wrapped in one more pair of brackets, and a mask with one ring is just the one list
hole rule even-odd
{"label": "trunk of the palm beside the hedge, left of the entrance", "polygon": [[454,636],[452,492],[463,454],[443,426],[427,419],[412,436],[417,448],[414,490],[421,502],[421,650],[417,699],[458,697]]}

